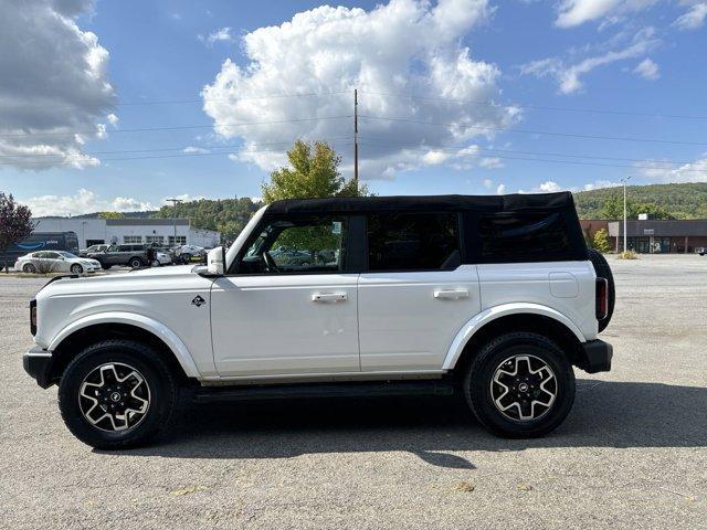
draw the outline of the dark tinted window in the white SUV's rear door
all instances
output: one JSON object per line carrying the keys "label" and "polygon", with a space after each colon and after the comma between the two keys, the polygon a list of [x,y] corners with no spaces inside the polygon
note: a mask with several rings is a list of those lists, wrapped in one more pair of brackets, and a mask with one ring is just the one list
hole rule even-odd
{"label": "dark tinted window in the white SUV's rear door", "polygon": [[461,264],[456,213],[368,216],[368,269],[437,271]]}

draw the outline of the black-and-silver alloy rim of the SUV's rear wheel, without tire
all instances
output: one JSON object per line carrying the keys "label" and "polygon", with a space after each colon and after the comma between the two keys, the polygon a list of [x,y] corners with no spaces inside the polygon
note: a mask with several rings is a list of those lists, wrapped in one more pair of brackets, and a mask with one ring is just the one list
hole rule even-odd
{"label": "black-and-silver alloy rim of the SUV's rear wheel, without tire", "polygon": [[496,409],[515,422],[538,420],[555,403],[558,381],[550,365],[539,357],[516,354],[504,360],[490,382]]}

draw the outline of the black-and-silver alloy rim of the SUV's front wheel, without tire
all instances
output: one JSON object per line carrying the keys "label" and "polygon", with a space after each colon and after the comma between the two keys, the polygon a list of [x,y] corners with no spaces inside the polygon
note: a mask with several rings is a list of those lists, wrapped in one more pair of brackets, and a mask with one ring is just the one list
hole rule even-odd
{"label": "black-and-silver alloy rim of the SUV's front wheel, without tire", "polygon": [[150,388],[143,374],[128,364],[101,364],[81,383],[78,406],[94,427],[125,431],[145,418],[150,406]]}

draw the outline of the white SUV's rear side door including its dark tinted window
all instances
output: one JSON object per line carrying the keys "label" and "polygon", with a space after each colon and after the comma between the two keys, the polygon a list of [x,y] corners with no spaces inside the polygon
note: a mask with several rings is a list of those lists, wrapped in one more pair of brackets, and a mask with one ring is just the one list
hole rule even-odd
{"label": "white SUV's rear side door including its dark tinted window", "polygon": [[455,212],[367,216],[358,289],[362,371],[440,370],[481,309],[475,265],[463,265]]}

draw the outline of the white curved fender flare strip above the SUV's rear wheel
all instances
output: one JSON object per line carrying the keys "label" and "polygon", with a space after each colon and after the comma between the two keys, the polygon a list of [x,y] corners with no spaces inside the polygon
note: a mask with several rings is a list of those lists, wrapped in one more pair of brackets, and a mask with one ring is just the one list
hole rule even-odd
{"label": "white curved fender flare strip above the SUV's rear wheel", "polygon": [[572,332],[572,335],[577,337],[577,340],[579,340],[580,342],[587,342],[587,339],[584,339],[584,336],[577,327],[577,325],[560,311],[552,309],[551,307],[530,303],[502,304],[499,306],[494,306],[483,310],[462,327],[462,329],[456,333],[456,337],[454,337],[454,340],[452,341],[452,344],[450,346],[446,356],[444,357],[444,364],[442,365],[442,369],[452,370],[456,364],[456,361],[462,356],[466,343],[479,329],[482,329],[488,322],[502,317],[507,317],[509,315],[524,314],[540,315],[542,317],[548,317],[557,320],[566,328],[568,328]]}

